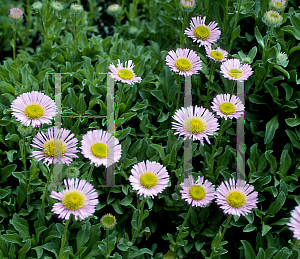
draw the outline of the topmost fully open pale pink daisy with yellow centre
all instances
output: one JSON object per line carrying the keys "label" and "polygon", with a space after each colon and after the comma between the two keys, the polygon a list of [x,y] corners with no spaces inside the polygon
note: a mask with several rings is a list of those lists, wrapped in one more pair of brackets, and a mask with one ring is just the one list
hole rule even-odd
{"label": "topmost fully open pale pink daisy with yellow centre", "polygon": [[[211,45],[220,38],[221,31],[217,27],[218,23],[210,22],[208,26],[205,25],[206,16],[201,19],[200,16],[192,17],[190,28],[187,28],[184,33],[193,39],[193,42],[200,42],[202,45]],[[216,28],[217,27],[217,28]]]}

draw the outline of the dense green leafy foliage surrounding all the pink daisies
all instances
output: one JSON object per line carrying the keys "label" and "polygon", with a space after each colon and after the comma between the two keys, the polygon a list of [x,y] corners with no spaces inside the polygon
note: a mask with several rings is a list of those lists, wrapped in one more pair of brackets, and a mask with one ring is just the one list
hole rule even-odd
{"label": "dense green leafy foliage surrounding all the pink daisies", "polygon": [[[285,3],[276,26],[264,18],[268,1],[204,0],[186,9],[175,0],[123,0],[114,7],[90,0],[75,11],[73,2],[62,1],[63,8],[54,1],[40,7],[31,0],[1,5],[0,258],[209,258],[212,251],[211,258],[298,258],[299,243],[287,226],[300,204],[298,2]],[[9,17],[12,8],[23,11],[20,20]],[[258,202],[249,214],[231,221],[216,202],[189,206],[179,186],[184,140],[171,122],[184,105],[185,77],[170,70],[166,55],[188,48],[201,58],[202,69],[192,75],[194,106],[212,111],[209,104],[216,95],[236,93],[236,81],[220,73],[220,62],[210,60],[204,46],[184,34],[197,16],[206,16],[206,25],[218,23],[222,33],[214,48],[220,46],[228,59],[253,70],[244,81],[245,180],[258,193]],[[63,164],[63,178],[75,171],[79,179],[88,179],[98,204],[85,220],[65,221],[51,211],[58,201],[49,196],[65,187],[51,184],[53,167],[31,156],[37,150],[33,138],[53,127],[54,119],[26,135],[11,105],[31,91],[54,100],[55,76],[47,73],[69,73],[61,77],[62,115],[106,115],[107,76],[99,73],[109,72],[118,59],[123,64],[132,60],[135,75],[142,78],[114,85],[115,137],[122,147],[115,182],[121,187],[99,187],[106,184],[106,167],[91,171],[91,160],[77,152],[70,165]],[[236,178],[236,121],[227,119],[223,134],[209,137],[211,144],[193,141],[195,180],[204,176],[218,187]],[[106,125],[106,118],[62,117],[62,128],[78,143],[87,131],[106,130]],[[153,199],[138,196],[129,181],[132,168],[146,160],[163,165],[170,177]],[[104,223],[108,213],[114,217]]]}

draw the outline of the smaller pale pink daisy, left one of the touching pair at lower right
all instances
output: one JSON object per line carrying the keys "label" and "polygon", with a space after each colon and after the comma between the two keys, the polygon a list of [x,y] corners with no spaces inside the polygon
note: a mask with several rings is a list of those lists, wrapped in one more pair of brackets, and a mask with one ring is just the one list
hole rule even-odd
{"label": "smaller pale pink daisy, left one of the touching pair at lower right", "polygon": [[194,182],[193,176],[189,175],[180,186],[183,189],[180,190],[181,198],[192,206],[205,207],[215,198],[214,185],[208,180],[204,182],[204,176],[198,176],[197,181]]}

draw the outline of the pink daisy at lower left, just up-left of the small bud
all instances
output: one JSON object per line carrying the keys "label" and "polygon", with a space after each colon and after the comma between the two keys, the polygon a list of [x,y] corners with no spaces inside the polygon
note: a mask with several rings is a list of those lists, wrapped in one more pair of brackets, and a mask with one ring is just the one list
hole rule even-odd
{"label": "pink daisy at lower left, just up-left of the small bud", "polygon": [[76,178],[64,179],[66,189],[57,193],[51,192],[50,197],[62,201],[61,203],[55,203],[52,207],[52,212],[59,214],[58,218],[68,220],[70,214],[75,216],[75,220],[85,218],[93,215],[98,204],[98,194],[93,188],[93,185],[86,180],[80,180]]}

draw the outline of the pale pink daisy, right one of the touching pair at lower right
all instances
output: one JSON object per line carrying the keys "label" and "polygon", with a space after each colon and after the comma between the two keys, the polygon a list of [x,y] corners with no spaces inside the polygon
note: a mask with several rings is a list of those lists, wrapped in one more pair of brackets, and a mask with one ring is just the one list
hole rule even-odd
{"label": "pale pink daisy, right one of the touching pair at lower right", "polygon": [[216,190],[216,202],[221,205],[224,213],[232,215],[247,215],[252,209],[257,208],[258,193],[246,181],[234,178],[229,182],[222,182]]}

